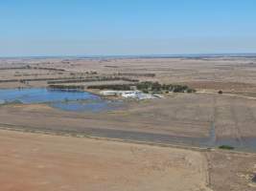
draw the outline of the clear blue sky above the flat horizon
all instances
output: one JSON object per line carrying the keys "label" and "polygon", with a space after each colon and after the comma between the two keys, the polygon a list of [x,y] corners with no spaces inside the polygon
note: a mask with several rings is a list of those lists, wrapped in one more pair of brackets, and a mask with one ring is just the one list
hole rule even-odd
{"label": "clear blue sky above the flat horizon", "polygon": [[256,53],[255,0],[0,0],[0,56]]}

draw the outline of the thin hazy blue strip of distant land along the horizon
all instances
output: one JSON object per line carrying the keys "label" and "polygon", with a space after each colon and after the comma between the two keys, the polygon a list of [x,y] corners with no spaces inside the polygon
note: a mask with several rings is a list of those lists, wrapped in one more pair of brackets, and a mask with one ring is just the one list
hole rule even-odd
{"label": "thin hazy blue strip of distant land along the horizon", "polygon": [[175,57],[244,57],[256,56],[256,53],[174,53],[174,54],[91,54],[91,55],[12,55],[0,58],[175,58]]}

